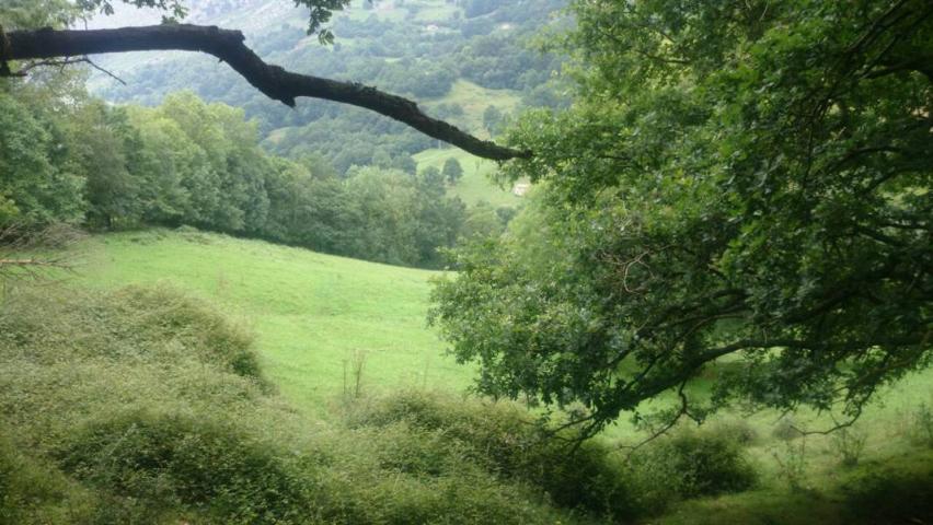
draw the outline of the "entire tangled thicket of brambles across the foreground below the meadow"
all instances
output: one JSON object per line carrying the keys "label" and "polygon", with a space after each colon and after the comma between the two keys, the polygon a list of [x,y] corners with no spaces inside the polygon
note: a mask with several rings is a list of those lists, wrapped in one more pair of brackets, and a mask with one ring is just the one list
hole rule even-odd
{"label": "entire tangled thicket of brambles across the foreground below the meadow", "polygon": [[249,331],[176,290],[12,288],[0,303],[4,524],[590,523],[751,479],[718,435],[625,463],[598,442],[572,454],[510,404],[410,392],[343,419],[308,424],[270,393]]}

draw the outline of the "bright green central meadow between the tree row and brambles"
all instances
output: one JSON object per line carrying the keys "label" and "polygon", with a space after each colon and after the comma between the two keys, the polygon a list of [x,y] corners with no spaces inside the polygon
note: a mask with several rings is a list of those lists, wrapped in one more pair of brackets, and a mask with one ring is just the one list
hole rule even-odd
{"label": "bright green central meadow between the tree row and brambles", "polygon": [[115,288],[168,281],[251,326],[268,376],[296,407],[324,416],[364,360],[367,393],[465,390],[466,366],[425,322],[430,271],[207,233],[95,236],[78,281]]}

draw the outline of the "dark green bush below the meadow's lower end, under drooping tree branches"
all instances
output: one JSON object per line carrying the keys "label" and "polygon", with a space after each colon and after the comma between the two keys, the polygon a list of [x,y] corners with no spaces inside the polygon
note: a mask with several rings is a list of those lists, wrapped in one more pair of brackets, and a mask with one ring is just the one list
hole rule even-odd
{"label": "dark green bush below the meadow's lower end, under drooping tree branches", "polygon": [[433,457],[433,467],[426,471],[439,470],[438,465],[448,457],[465,457],[495,476],[535,487],[564,508],[617,517],[635,513],[624,469],[608,447],[588,441],[572,452],[566,440],[572,435],[551,439],[527,411],[510,404],[464,402],[408,392],[350,418],[355,428],[394,424],[435,436],[436,446],[429,454],[402,456]]}

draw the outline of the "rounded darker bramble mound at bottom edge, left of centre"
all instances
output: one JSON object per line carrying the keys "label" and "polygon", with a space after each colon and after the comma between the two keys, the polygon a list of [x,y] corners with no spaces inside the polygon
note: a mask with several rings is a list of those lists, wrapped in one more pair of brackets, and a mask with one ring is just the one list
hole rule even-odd
{"label": "rounded darker bramble mound at bottom edge, left of centre", "polygon": [[181,505],[223,523],[310,523],[312,478],[277,447],[231,423],[137,411],[92,421],[58,453],[62,468],[103,492]]}

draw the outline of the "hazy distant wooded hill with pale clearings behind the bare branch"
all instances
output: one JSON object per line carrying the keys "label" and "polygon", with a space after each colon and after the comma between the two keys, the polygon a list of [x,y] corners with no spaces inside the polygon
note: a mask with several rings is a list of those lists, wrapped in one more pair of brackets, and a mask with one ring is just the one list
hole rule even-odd
{"label": "hazy distant wooded hill with pale clearings behind the bare branch", "polygon": [[[430,114],[482,137],[521,107],[561,105],[554,72],[561,59],[530,48],[565,0],[355,1],[333,21],[336,44],[304,33],[307,12],[286,0],[191,0],[188,22],[242,30],[264,59],[289,69],[353,80],[413,97]],[[97,26],[156,23],[158,13],[123,8]],[[560,20],[560,19],[558,19]],[[370,112],[302,100],[292,110],[265,98],[224,65],[187,52],[110,56],[102,63],[127,81],[104,75],[91,89],[111,102],[153,105],[170,92],[193,90],[208,101],[243,107],[260,125],[264,145],[286,156],[320,155],[337,172],[384,158],[414,155],[436,141]],[[489,186],[492,190],[495,188]],[[493,197],[494,198],[494,197]]]}

